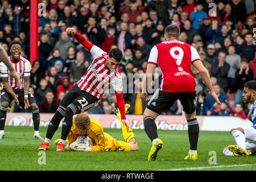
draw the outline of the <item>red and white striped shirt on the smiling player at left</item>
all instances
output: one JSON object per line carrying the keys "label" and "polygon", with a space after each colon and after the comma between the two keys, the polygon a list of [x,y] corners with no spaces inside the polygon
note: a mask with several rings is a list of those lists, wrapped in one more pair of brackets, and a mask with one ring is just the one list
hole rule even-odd
{"label": "red and white striped shirt on the smiling player at left", "polygon": [[[30,76],[30,71],[31,71],[30,61],[28,61],[26,58],[24,58],[22,56],[20,56],[18,63],[14,63],[13,60],[11,60],[11,56],[9,56],[9,60],[13,64],[15,71],[18,73],[18,75],[20,77],[21,89],[23,89],[24,77]],[[9,76],[10,71],[7,68],[7,66],[5,65],[5,63],[1,62],[0,67],[1,67],[1,77],[9,77],[8,80],[9,80],[9,84],[10,84],[11,88],[19,89],[18,83],[16,82],[15,78],[13,78],[13,77],[11,78]],[[5,85],[3,85],[3,88],[5,88]]]}

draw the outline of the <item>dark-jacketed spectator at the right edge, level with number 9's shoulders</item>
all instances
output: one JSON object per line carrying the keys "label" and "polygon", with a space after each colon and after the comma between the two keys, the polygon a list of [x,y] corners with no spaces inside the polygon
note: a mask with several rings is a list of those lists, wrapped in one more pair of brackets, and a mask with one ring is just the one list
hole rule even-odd
{"label": "dark-jacketed spectator at the right edge, level with number 9's shoulders", "polygon": [[247,33],[245,35],[245,43],[237,45],[237,53],[241,54],[241,57],[245,57],[247,60],[253,60],[256,46],[253,44],[253,35]]}

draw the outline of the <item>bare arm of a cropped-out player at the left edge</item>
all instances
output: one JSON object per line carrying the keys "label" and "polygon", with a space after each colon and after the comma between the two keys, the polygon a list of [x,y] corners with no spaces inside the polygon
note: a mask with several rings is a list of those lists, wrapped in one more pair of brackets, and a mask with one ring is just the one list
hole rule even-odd
{"label": "bare arm of a cropped-out player at the left edge", "polygon": [[[13,68],[13,65],[11,65],[11,61],[9,60],[9,57],[5,51],[5,48],[3,48],[0,45],[0,62],[3,61],[3,63],[5,63],[6,67],[9,69],[10,73],[9,75],[11,77],[14,77],[16,82],[18,83],[18,86],[20,88],[21,84],[20,84],[20,78],[18,76],[18,73],[15,71],[15,69]],[[10,86],[10,85],[9,85]]]}

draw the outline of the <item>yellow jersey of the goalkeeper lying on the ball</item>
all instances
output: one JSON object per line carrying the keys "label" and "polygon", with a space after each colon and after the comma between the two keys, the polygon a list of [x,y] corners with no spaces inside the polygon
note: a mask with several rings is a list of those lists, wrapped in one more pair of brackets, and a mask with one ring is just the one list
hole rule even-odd
{"label": "yellow jersey of the goalkeeper lying on the ball", "polygon": [[[71,130],[68,134],[69,145],[81,136],[75,125],[75,118],[73,119]],[[90,151],[130,151],[130,144],[117,140],[105,133],[100,122],[96,119],[90,118],[90,127],[87,136],[93,140],[93,146]]]}

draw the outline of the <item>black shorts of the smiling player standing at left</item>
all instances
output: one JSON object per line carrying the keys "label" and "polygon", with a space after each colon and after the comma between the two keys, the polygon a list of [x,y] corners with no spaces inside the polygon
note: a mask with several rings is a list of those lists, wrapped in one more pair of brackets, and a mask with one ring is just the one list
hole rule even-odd
{"label": "black shorts of the smiling player standing at left", "polygon": [[[24,104],[24,90],[23,89],[13,89],[13,92],[16,95],[18,95],[19,105],[24,109],[24,106],[25,106],[25,104]],[[11,96],[11,94],[8,93],[6,91],[6,89],[1,90],[1,103],[9,102],[9,106],[10,106],[10,103],[13,100],[14,100],[13,96]],[[35,103],[35,98],[30,92],[28,92],[28,102],[30,104]]]}

